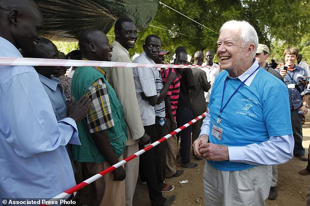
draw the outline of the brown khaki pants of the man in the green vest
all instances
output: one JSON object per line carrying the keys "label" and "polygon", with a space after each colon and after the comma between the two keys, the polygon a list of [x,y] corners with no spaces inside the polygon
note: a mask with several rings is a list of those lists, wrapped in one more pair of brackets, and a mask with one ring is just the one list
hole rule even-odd
{"label": "brown khaki pants of the man in the green vest", "polygon": [[[121,155],[118,161],[123,160]],[[89,178],[111,165],[106,161],[103,163],[82,163],[82,170],[86,178]],[[90,192],[89,199],[97,206],[125,206],[125,181],[113,181],[113,172],[109,172],[102,178],[91,183],[95,193]],[[97,200],[97,203],[95,203]]]}

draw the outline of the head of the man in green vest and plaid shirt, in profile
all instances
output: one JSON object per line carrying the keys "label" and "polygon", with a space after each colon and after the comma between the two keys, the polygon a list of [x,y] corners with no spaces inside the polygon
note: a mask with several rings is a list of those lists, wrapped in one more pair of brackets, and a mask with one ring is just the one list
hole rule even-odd
{"label": "head of the man in green vest and plaid shirt, in profile", "polygon": [[79,45],[83,57],[96,61],[111,61],[112,46],[105,33],[87,29],[79,35]]}

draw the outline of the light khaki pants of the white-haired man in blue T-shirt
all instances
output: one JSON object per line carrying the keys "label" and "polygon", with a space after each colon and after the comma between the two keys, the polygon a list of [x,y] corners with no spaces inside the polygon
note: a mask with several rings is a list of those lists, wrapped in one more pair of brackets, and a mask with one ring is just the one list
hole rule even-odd
{"label": "light khaki pants of the white-haired man in blue T-shirt", "polygon": [[255,166],[239,171],[221,171],[204,165],[205,206],[265,206],[269,195],[272,167]]}

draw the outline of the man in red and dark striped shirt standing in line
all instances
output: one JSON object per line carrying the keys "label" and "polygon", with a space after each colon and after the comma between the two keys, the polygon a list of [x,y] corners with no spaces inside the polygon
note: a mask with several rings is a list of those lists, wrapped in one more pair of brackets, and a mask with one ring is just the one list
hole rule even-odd
{"label": "man in red and dark striped shirt standing in line", "polygon": [[[175,64],[187,64],[187,54],[186,51],[179,51],[176,53]],[[176,109],[178,96],[180,92],[180,79],[181,72],[183,68],[167,68],[161,70],[162,81],[165,84],[168,79],[170,72],[174,72],[177,75],[177,79],[169,87],[167,96],[165,98],[165,107],[166,107],[166,133],[169,133],[177,128],[176,122]],[[178,177],[183,174],[183,170],[177,170],[177,136],[174,135],[167,140],[166,148],[166,169],[165,176],[167,178]]]}

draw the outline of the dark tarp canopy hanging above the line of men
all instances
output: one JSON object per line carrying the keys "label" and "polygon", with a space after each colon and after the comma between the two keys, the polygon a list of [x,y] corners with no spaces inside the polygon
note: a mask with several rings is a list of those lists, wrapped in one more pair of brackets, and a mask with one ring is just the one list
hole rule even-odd
{"label": "dark tarp canopy hanging above the line of men", "polygon": [[156,15],[159,0],[34,0],[42,10],[42,36],[55,41],[76,41],[83,29],[108,33],[115,21],[129,17],[144,29]]}

